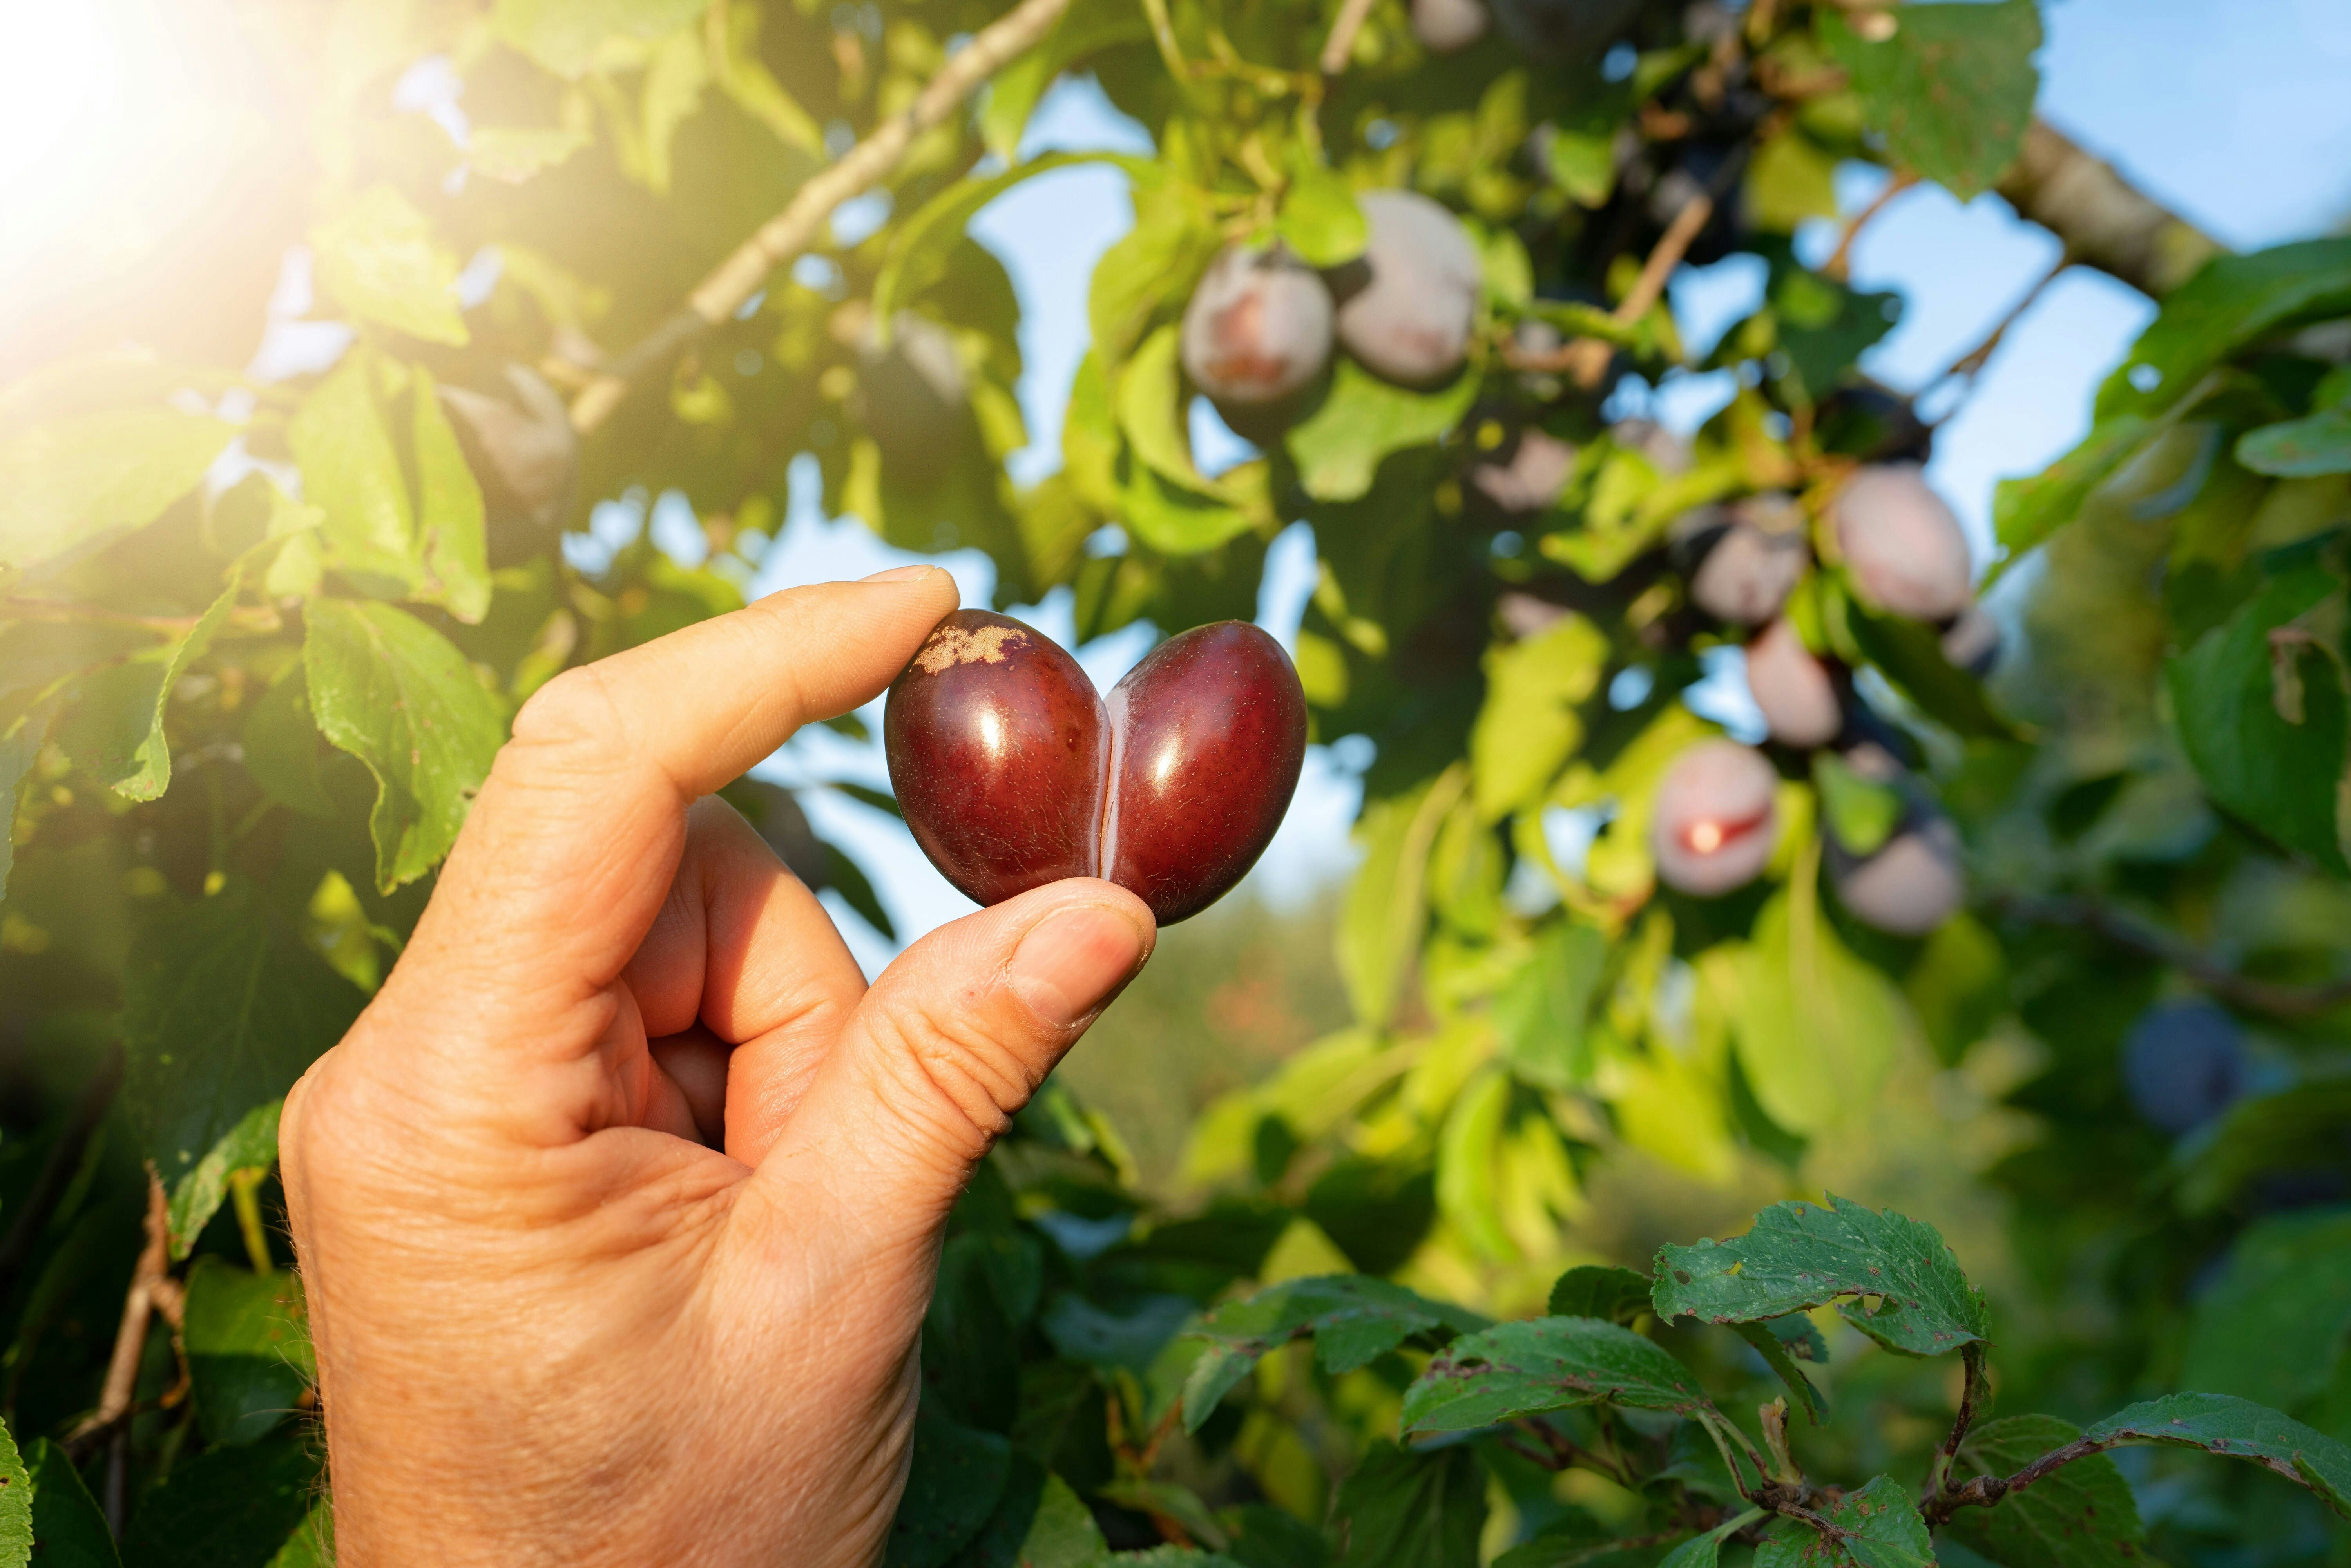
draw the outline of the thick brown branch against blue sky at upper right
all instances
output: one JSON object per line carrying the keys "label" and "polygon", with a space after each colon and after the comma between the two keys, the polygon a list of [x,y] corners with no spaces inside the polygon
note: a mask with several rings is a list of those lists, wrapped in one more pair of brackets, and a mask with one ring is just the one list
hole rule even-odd
{"label": "thick brown branch against blue sky at upper right", "polygon": [[1996,188],[2020,216],[2057,235],[2067,256],[2156,299],[2229,249],[2048,120],[2027,127],[2024,150]]}

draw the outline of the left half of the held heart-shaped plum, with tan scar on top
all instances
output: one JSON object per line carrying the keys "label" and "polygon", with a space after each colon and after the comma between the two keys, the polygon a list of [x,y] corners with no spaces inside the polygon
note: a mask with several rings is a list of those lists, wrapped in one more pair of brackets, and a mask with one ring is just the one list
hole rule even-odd
{"label": "left half of the held heart-shaped plum, with tan scar on top", "polygon": [[882,750],[905,825],[976,903],[1091,877],[1110,724],[1044,632],[959,609],[889,689]]}

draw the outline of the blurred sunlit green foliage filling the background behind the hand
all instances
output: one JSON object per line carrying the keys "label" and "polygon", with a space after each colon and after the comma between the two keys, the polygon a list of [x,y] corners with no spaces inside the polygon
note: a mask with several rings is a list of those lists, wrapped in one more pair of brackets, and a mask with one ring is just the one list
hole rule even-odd
{"label": "blurred sunlit green foliage filling the background behind the hand", "polygon": [[[1822,1192],[1954,1244],[1991,1293],[2003,1413],[2193,1387],[2351,1439],[2351,244],[2215,259],[2036,127],[2031,0],[1582,14],[1606,16],[1559,47],[1439,56],[1389,0],[249,0],[270,132],[207,242],[0,350],[0,1415],[40,1507],[110,1523],[132,1563],[327,1552],[275,1100],[397,959],[515,705],[738,604],[799,454],[828,512],[978,545],[1002,604],[1067,590],[1084,637],[1255,614],[1267,541],[1305,520],[1317,738],[1375,757],[1338,905],[1171,936],[973,1187],[900,1561],[1655,1561],[1665,1523],[1728,1507],[1702,1458],[1627,1486],[1493,1439],[1382,1448],[1425,1340],[1349,1371],[1279,1349],[1183,1429],[1185,1328],[1333,1272],[1540,1314],[1563,1269]],[[461,134],[395,106],[430,56],[463,80]],[[936,87],[983,61],[985,92]],[[964,223],[1060,162],[1011,160],[1065,71],[1157,153],[1119,160],[1136,228],[1093,277],[1063,465],[1016,487],[1018,306]],[[1735,642],[1688,611],[1674,520],[1766,491],[1817,515],[1928,435],[1853,369],[1900,301],[1789,242],[1836,214],[1846,160],[1998,188],[2165,306],[2083,447],[2003,487],[1991,569],[2036,564],[1989,691],[1848,592],[1831,548],[1803,590],[1968,844],[1968,912],[1918,940],[1838,905],[1803,755],[1777,755],[1759,884],[1662,891],[1643,837],[1662,766],[1709,733],[1679,696]],[[842,169],[889,193],[853,244],[792,219],[811,181],[851,195],[823,186]],[[1406,390],[1340,362],[1286,440],[1201,473],[1171,334],[1192,282],[1267,233],[1345,261],[1347,193],[1380,186],[1476,237],[1469,364]],[[249,360],[287,247],[292,315],[350,341],[273,378]],[[1615,376],[1688,360],[1643,266],[1723,254],[1770,268],[1707,360],[1737,397],[1688,444],[1603,418]],[[1589,383],[1554,355],[1578,339],[1608,350]],[[440,388],[501,400],[560,496],[515,494]],[[1500,512],[1469,473],[1533,430],[1573,473]],[[691,501],[698,559],[562,550],[630,487]],[[734,795],[884,922],[788,795]],[[2229,1067],[2175,1114],[2128,1041],[2196,999]],[[1799,1455],[1907,1486],[1956,1366],[1817,1316],[1836,1415]],[[1716,1392],[1777,1387],[1721,1335],[1655,1333]],[[2259,1469],[2121,1462],[2144,1540],[1935,1549],[2346,1556]],[[971,1474],[994,1481],[940,1481]]]}

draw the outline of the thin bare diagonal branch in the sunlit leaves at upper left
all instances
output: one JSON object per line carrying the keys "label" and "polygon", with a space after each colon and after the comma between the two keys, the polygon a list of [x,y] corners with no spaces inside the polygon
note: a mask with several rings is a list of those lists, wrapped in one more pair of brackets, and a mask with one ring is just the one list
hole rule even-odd
{"label": "thin bare diagonal branch in the sunlit leaves at upper left", "polygon": [[621,407],[630,381],[665,364],[686,343],[741,310],[776,268],[809,249],[809,242],[842,202],[882,183],[917,136],[945,125],[978,92],[980,82],[1044,40],[1067,9],[1070,0],[1020,0],[1011,12],[973,33],[971,42],[957,49],[955,59],[924,85],[903,113],[877,125],[839,162],[804,183],[783,212],[762,223],[750,240],[703,277],[675,315],[590,376],[588,386],[571,400],[571,425],[581,433],[602,425]]}

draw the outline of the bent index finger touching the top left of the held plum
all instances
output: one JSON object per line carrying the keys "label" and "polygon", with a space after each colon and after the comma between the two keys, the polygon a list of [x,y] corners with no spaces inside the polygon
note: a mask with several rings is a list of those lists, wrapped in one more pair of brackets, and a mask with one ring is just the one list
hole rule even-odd
{"label": "bent index finger touching the top left of the held plum", "polygon": [[[609,985],[684,849],[686,806],[889,686],[957,604],[938,567],[818,583],[567,670],[522,712],[418,924],[501,992]],[[411,950],[418,945],[411,943]]]}

